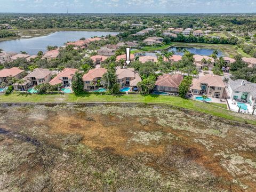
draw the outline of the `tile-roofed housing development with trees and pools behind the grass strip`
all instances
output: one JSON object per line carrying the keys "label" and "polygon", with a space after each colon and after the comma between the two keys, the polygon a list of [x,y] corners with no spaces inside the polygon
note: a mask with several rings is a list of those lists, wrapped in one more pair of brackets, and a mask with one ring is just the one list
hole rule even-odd
{"label": "tile-roofed housing development with trees and pools behind the grass strip", "polygon": [[9,94],[11,85],[14,91],[29,94],[76,93],[78,83],[73,84],[80,79],[84,92],[173,95],[226,103],[229,110],[254,113],[256,84],[236,71],[255,70],[256,58],[238,53],[230,56],[218,49],[202,54],[193,48],[195,52],[191,53],[189,47],[171,45],[186,39],[217,39],[209,36],[213,33],[210,27],[168,27],[160,31],[159,26],[142,30],[138,29],[143,27],[141,24],[133,27],[137,32],[129,36],[119,33],[81,38],[59,47],[47,46],[45,52],[35,55],[2,50],[1,92]]}

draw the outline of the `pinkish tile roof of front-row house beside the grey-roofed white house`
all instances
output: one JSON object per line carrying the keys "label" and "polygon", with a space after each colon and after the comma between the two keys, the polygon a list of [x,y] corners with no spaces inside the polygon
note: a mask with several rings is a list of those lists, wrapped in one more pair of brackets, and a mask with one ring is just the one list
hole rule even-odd
{"label": "pinkish tile roof of front-row house beside the grey-roofed white house", "polygon": [[199,76],[199,78],[194,78],[191,89],[201,90],[201,83],[205,83],[208,86],[225,87],[221,76],[206,74],[204,76]]}

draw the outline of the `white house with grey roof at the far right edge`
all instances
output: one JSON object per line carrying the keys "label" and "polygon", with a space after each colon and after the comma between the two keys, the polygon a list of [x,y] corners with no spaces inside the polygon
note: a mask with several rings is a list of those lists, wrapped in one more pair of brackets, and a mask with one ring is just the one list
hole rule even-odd
{"label": "white house with grey roof at the far right edge", "polygon": [[245,101],[256,107],[256,83],[244,79],[232,81],[229,79],[227,93],[230,99]]}

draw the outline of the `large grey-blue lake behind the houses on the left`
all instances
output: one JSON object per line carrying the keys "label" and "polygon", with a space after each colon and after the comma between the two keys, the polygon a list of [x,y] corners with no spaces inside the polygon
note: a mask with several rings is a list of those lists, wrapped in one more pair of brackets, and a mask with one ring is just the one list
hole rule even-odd
{"label": "large grey-blue lake behind the houses on the left", "polygon": [[82,37],[91,38],[93,36],[117,35],[118,32],[109,31],[58,31],[50,35],[33,37],[29,39],[17,39],[0,42],[0,49],[19,53],[26,51],[30,55],[35,55],[38,51],[46,51],[48,45],[62,46],[68,41],[77,41]]}

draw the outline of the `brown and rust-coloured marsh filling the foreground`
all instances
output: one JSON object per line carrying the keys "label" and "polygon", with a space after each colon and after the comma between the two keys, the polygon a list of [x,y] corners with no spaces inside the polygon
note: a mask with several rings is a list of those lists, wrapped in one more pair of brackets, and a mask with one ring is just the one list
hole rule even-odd
{"label": "brown and rust-coloured marsh filling the foreground", "polygon": [[256,126],[142,104],[1,105],[1,191],[254,191]]}

